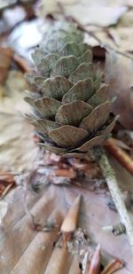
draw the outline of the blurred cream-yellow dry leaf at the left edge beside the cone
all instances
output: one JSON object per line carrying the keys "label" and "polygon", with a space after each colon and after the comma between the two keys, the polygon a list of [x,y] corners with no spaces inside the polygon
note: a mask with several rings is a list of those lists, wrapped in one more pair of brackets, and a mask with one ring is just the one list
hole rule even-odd
{"label": "blurred cream-yellow dry leaf at the left edge beside the cone", "polygon": [[6,97],[0,100],[0,167],[16,172],[32,168],[38,148],[34,128],[23,115],[27,109],[24,90],[28,89],[23,74],[10,71],[4,89]]}

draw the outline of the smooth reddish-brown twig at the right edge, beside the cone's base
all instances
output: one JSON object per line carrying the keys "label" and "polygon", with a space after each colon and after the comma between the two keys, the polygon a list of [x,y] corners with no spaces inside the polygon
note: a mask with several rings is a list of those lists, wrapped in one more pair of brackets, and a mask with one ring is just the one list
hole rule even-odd
{"label": "smooth reddish-brown twig at the right edge, beside the cone's base", "polygon": [[133,160],[129,157],[128,153],[124,152],[118,145],[115,145],[113,138],[108,139],[105,146],[106,150],[111,153],[131,175],[133,175]]}

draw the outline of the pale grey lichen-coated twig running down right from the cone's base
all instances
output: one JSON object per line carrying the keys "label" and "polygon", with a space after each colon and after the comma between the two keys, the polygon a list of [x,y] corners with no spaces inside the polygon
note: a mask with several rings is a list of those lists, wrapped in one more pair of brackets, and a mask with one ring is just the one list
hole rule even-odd
{"label": "pale grey lichen-coated twig running down right from the cone's base", "polygon": [[102,152],[100,157],[99,165],[103,171],[104,176],[106,177],[106,184],[108,185],[109,191],[111,192],[115,207],[121,216],[121,223],[125,225],[126,233],[129,239],[129,246],[133,252],[133,225],[129,218],[129,213],[125,207],[125,203],[122,200],[121,191],[117,184],[113,168],[107,160],[106,154],[104,152]]}

